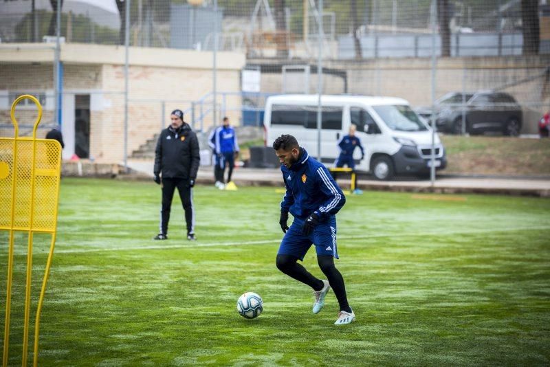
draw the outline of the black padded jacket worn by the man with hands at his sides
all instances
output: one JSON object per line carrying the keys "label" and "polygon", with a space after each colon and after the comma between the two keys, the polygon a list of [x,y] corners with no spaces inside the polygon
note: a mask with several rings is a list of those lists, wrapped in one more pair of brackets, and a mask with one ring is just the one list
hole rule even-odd
{"label": "black padded jacket worn by the man with hands at his sides", "polygon": [[188,124],[161,131],[155,149],[155,175],[162,172],[164,178],[196,179],[200,162],[199,140]]}

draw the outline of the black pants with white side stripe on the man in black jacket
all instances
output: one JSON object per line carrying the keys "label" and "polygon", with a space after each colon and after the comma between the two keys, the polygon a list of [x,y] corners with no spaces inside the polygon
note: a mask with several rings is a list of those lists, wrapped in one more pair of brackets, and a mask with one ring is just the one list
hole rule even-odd
{"label": "black pants with white side stripe on the man in black jacket", "polygon": [[195,208],[193,208],[193,188],[189,186],[189,179],[163,178],[162,179],[162,210],[160,211],[160,233],[168,234],[170,207],[174,191],[177,188],[179,198],[184,206],[187,233],[195,233]]}

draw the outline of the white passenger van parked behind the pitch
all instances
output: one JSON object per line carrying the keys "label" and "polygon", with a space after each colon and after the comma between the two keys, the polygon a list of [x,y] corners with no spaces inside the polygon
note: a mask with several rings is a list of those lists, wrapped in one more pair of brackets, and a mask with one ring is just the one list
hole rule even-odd
{"label": "white passenger van parked behind the pitch", "polygon": [[[294,135],[312,157],[317,157],[317,95],[271,96],[265,102],[266,144],[283,135]],[[432,131],[410,109],[406,100],[393,97],[322,96],[321,162],[334,166],[338,142],[357,125],[355,135],[365,150],[365,159],[355,149],[355,169],[371,172],[377,179],[395,174],[427,175],[430,172]],[[435,166],[445,168],[445,149],[435,135]]]}

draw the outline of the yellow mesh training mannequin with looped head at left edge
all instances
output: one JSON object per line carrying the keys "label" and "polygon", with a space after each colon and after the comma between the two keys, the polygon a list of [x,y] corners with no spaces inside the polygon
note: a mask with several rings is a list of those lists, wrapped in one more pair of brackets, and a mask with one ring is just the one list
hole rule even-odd
{"label": "yellow mesh training mannequin with looped head at left edge", "polygon": [[[19,137],[15,107],[29,99],[38,108],[32,137]],[[5,298],[5,330],[2,366],[8,366],[10,342],[10,315],[15,232],[28,233],[27,276],[25,287],[25,316],[23,323],[23,366],[27,365],[30,294],[32,280],[32,236],[34,233],[52,234],[50,253],[36,309],[34,323],[34,366],[39,355],[39,325],[47,278],[50,275],[56,242],[59,181],[61,177],[61,144],[56,140],[36,139],[36,129],[42,118],[42,106],[33,96],[20,96],[11,110],[14,137],[0,137],[0,231],[9,232],[8,278]]]}

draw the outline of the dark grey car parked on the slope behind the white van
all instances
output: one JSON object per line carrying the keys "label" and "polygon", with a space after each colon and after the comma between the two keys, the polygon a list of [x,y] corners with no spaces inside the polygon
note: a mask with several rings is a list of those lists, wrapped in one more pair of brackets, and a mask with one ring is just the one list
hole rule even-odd
{"label": "dark grey car parked on the slope behind the white van", "polygon": [[[478,91],[475,93],[451,92],[435,102],[438,131],[452,134],[465,132],[470,135],[500,132],[504,135],[520,135],[521,107],[508,93]],[[431,118],[430,109],[418,109],[423,118]]]}

